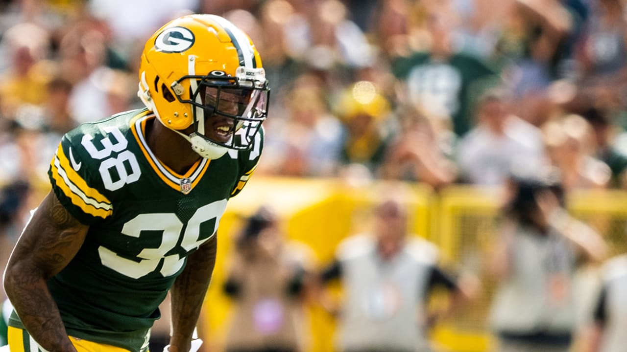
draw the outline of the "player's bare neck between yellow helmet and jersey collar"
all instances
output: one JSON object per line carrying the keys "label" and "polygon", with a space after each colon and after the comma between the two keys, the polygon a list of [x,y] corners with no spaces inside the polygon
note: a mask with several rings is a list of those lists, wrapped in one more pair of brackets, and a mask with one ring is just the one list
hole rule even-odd
{"label": "player's bare neck between yellow helmet and jersey collar", "polygon": [[146,123],[146,140],[155,157],[180,175],[201,158],[192,150],[189,141],[157,122],[156,118]]}

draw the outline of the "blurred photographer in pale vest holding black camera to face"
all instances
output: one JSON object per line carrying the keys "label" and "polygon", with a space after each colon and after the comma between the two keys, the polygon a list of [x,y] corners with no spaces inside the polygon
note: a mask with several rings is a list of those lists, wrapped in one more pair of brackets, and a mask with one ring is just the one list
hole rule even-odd
{"label": "blurred photographer in pale vest holding black camera to face", "polygon": [[513,177],[509,185],[512,199],[489,266],[498,282],[490,310],[498,351],[566,352],[576,327],[577,256],[601,261],[604,242],[564,210],[559,182]]}

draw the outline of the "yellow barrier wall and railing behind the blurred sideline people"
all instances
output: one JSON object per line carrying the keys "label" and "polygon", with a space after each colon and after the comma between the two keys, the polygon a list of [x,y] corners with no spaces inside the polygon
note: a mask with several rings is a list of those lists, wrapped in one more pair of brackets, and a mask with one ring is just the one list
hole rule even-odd
{"label": "yellow barrier wall and railing behind the blurred sideline people", "polygon": [[[38,187],[47,190],[47,187]],[[440,192],[420,184],[398,182],[345,182],[335,179],[286,179],[253,177],[246,189],[229,202],[218,230],[219,251],[214,277],[203,313],[203,330],[213,349],[221,349],[231,303],[220,287],[233,249],[232,237],[241,220],[260,205],[270,205],[283,220],[288,239],[307,244],[321,267],[334,256],[346,236],[366,231],[369,211],[387,195],[399,195],[413,215],[410,229],[440,246],[443,265],[470,271],[483,279],[483,291],[468,308],[436,326],[432,338],[441,351],[489,351],[492,339],[486,329],[486,313],[493,283],[482,277],[483,259],[489,251],[502,197],[497,189],[451,186]],[[580,190],[568,198],[572,214],[598,230],[611,254],[627,251],[627,192]],[[333,350],[334,321],[322,309],[308,309],[310,352]]]}

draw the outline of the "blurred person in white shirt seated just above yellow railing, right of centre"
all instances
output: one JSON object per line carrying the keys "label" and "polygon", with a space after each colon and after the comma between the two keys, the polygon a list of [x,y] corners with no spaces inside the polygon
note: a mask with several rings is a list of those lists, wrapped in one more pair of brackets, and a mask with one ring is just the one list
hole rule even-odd
{"label": "blurred person in white shirt seated just above yellow railing, right of centre", "polygon": [[478,125],[457,146],[461,179],[502,185],[515,170],[539,170],[545,163],[542,133],[515,116],[502,90],[489,90],[477,105]]}

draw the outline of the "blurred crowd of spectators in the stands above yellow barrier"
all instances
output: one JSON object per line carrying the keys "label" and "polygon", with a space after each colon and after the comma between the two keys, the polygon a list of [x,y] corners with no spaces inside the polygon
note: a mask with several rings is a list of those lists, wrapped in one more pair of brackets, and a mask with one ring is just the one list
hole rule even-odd
{"label": "blurred crowd of spectators in the stands above yellow barrier", "polygon": [[[184,13],[224,16],[263,58],[272,93],[256,175],[407,180],[437,191],[508,185],[512,175],[552,167],[564,192],[627,189],[624,0],[2,0],[0,184],[11,187],[2,196],[9,225],[0,252],[36,205],[25,194],[46,182],[63,133],[143,106],[143,44]],[[534,198],[535,211],[560,208],[556,199]],[[527,227],[537,220],[512,214]],[[562,246],[559,238],[551,246]],[[532,242],[520,244],[525,255],[544,246]],[[243,267],[255,257],[241,246],[247,254],[228,287],[236,298],[245,297]],[[556,250],[571,251],[564,246]],[[565,253],[554,264],[568,272],[575,254]],[[287,297],[301,289],[302,270],[293,267],[273,277],[290,287]],[[507,266],[495,268],[506,276]],[[332,269],[325,277],[339,276]],[[262,284],[252,283],[258,291]],[[276,309],[273,302],[265,309]],[[515,320],[495,314],[503,324]]]}

